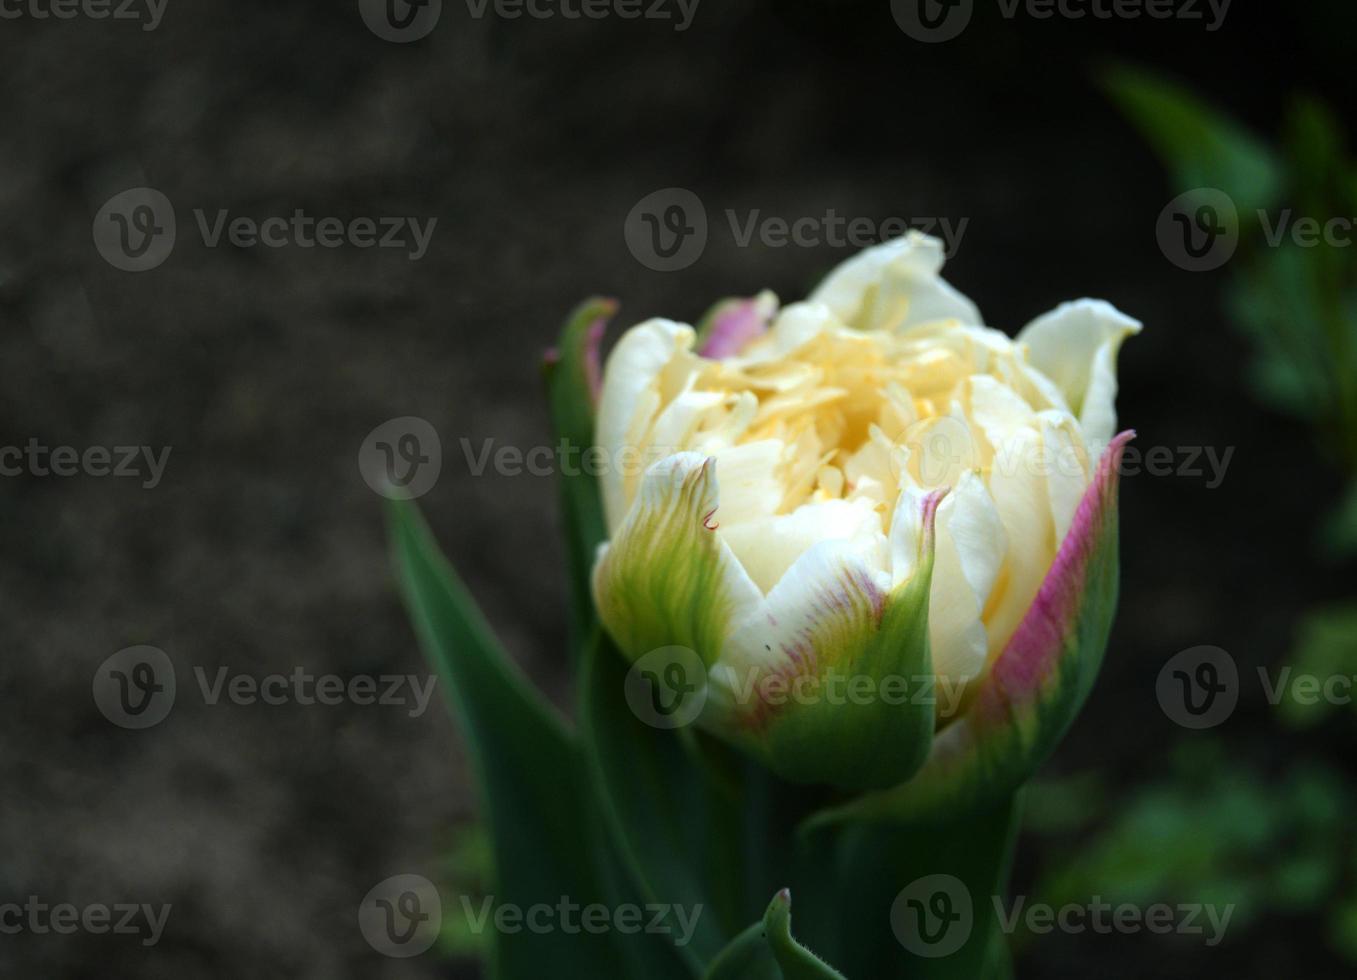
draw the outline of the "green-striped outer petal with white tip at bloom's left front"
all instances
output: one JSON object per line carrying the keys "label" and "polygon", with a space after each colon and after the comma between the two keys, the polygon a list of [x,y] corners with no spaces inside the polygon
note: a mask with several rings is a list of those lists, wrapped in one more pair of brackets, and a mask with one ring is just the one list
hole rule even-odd
{"label": "green-striped outer petal with white tip at bloom's left front", "polygon": [[731,623],[763,596],[716,536],[715,460],[681,452],[651,466],[612,540],[600,548],[598,619],[628,657],[687,646],[708,666]]}

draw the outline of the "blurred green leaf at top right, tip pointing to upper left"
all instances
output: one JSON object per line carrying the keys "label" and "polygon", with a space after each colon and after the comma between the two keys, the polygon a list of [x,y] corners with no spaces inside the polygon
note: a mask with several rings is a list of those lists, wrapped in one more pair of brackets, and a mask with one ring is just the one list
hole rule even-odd
{"label": "blurred green leaf at top right, tip pointing to upper left", "polygon": [[1276,202],[1281,171],[1272,151],[1224,113],[1145,69],[1117,67],[1102,81],[1179,190],[1219,187],[1242,219]]}

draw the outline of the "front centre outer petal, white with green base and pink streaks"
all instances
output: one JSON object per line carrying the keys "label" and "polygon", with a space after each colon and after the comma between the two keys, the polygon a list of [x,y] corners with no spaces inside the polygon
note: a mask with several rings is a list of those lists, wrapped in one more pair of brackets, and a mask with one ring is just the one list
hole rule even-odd
{"label": "front centre outer petal, white with green base and pink streaks", "polygon": [[911,495],[897,510],[912,533],[893,535],[893,550],[906,538],[915,544],[898,586],[860,542],[817,544],[737,627],[712,671],[726,734],[784,779],[883,789],[927,757],[934,707],[915,695],[932,673],[928,586],[940,497]]}

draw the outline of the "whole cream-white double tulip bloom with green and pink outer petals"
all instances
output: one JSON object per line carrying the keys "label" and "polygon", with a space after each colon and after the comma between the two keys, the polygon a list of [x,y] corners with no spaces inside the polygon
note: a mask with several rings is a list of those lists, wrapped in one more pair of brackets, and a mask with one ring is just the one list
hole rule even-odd
{"label": "whole cream-white double tulip bloom with green and pink outer petals", "polygon": [[692,650],[703,728],[788,780],[889,790],[864,812],[1012,791],[1115,605],[1140,323],[1079,300],[1010,338],[942,265],[911,233],[801,303],[641,323],[597,406],[604,628],[632,660]]}

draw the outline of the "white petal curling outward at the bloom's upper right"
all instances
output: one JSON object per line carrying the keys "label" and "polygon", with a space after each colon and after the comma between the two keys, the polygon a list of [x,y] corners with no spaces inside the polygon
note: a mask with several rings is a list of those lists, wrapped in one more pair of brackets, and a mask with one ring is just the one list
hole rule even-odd
{"label": "white petal curling outward at the bloom's upper right", "polygon": [[1033,365],[1065,396],[1090,447],[1101,449],[1117,429],[1117,350],[1140,326],[1110,303],[1075,300],[1018,334]]}

